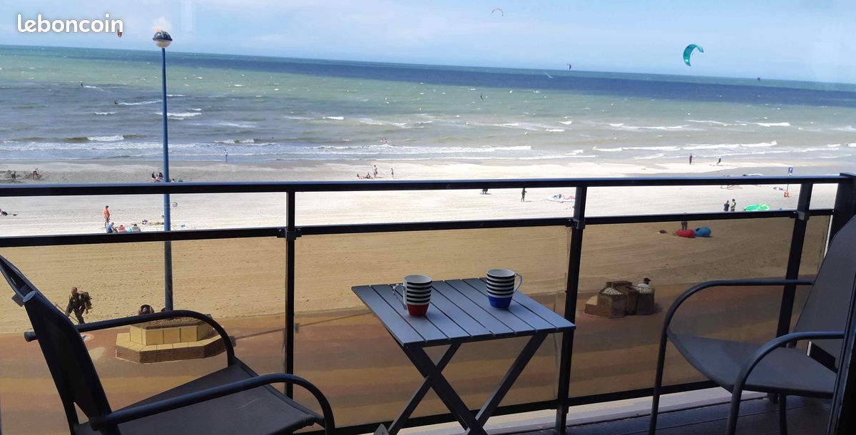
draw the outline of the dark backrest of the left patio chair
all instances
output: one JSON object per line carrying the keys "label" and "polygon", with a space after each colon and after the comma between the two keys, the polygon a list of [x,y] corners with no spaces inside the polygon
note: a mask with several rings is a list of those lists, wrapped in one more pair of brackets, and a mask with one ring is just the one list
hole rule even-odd
{"label": "dark backrest of the left patio chair", "polygon": [[92,358],[68,317],[3,256],[0,256],[0,272],[15,290],[12,299],[27,309],[42,355],[62,398],[68,425],[78,423],[75,403],[90,418],[110,413],[110,403]]}

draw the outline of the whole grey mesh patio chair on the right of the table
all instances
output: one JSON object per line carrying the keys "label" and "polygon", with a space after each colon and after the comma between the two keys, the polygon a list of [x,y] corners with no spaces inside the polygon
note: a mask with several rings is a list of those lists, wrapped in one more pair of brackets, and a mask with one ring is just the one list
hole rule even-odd
{"label": "whole grey mesh patio chair on the right of the table", "polygon": [[743,390],[761,391],[778,395],[779,431],[788,433],[785,396],[832,397],[835,389],[835,372],[806,355],[805,350],[795,349],[799,341],[810,340],[811,346],[822,349],[835,358],[841,356],[841,343],[847,325],[850,299],[856,281],[856,218],[848,222],[835,235],[811,292],[794,325],[794,331],[770,342],[758,345],[714,338],[694,337],[672,331],[669,323],[675,311],[684,301],[701,290],[714,287],[734,286],[782,286],[807,285],[811,280],[802,279],[754,279],[734,281],[710,281],[687,289],[666,313],[660,335],[660,350],[657,357],[657,375],[654,380],[651,426],[649,434],[657,430],[657,407],[660,387],[663,383],[663,362],[668,338],[681,355],[707,378],[722,388],[731,391],[731,407],[728,414],[728,434],[737,428],[740,412],[740,396]]}

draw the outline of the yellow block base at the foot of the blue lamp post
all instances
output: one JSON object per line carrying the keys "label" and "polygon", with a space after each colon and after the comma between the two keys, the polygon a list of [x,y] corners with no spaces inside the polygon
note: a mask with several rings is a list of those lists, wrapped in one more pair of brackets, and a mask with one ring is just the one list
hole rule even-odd
{"label": "yellow block base at the foot of the blue lamp post", "polygon": [[116,358],[140,364],[207,358],[224,350],[217,332],[199,319],[153,320],[116,334]]}

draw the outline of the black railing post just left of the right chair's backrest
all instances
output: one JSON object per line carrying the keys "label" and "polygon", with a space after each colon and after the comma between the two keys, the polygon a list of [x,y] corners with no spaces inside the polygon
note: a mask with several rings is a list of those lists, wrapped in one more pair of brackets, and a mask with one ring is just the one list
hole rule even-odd
{"label": "black railing post just left of the right chair's backrest", "polygon": [[[808,218],[811,215],[809,204],[811,203],[812,184],[800,185],[800,198],[797,200],[797,215],[794,219],[794,231],[791,233],[791,248],[788,253],[788,268],[785,271],[785,279],[797,279],[800,277],[800,262],[802,260],[803,245],[805,244],[805,228],[808,226]],[[776,337],[783,336],[791,329],[791,316],[794,313],[794,295],[797,286],[786,285],[782,291],[782,306],[779,307],[779,325],[776,328]]]}

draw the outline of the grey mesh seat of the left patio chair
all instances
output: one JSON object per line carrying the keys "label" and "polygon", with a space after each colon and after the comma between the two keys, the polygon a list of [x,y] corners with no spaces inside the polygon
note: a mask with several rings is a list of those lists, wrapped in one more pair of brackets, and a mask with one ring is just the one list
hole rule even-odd
{"label": "grey mesh seat of the left patio chair", "polygon": [[[181,396],[193,391],[205,390],[217,385],[229,384],[241,379],[253,378],[255,373],[239,362],[212,372],[202,378],[163,391],[128,408],[170,397]],[[140,420],[119,425],[122,435],[152,433],[205,433],[205,434],[281,434],[292,433],[313,423],[322,423],[323,418],[311,410],[292,401],[269,385],[241,391],[211,401],[177,408]],[[96,435],[88,423],[74,426],[78,435]]]}

